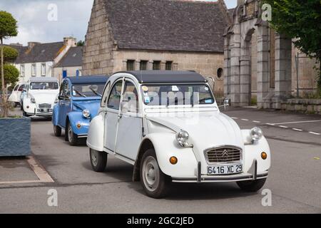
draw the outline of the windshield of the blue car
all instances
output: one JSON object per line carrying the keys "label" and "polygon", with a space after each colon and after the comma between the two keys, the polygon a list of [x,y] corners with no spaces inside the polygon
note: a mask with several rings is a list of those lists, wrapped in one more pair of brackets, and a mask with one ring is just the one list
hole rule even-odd
{"label": "windshield of the blue car", "polygon": [[74,97],[96,97],[103,93],[105,84],[81,84],[73,85],[73,96]]}

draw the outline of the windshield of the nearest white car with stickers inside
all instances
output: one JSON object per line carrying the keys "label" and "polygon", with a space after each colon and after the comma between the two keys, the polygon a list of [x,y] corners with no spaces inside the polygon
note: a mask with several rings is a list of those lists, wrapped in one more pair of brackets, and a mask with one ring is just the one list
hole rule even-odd
{"label": "windshield of the nearest white car with stickers inside", "polygon": [[143,102],[153,105],[210,105],[215,102],[205,84],[143,85]]}

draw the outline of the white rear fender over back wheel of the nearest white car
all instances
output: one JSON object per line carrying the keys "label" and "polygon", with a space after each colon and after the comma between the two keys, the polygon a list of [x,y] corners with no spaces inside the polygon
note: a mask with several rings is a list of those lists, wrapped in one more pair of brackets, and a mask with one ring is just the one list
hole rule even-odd
{"label": "white rear fender over back wheel of the nearest white car", "polygon": [[87,145],[93,150],[103,151],[104,123],[104,114],[98,114],[91,120],[88,130]]}

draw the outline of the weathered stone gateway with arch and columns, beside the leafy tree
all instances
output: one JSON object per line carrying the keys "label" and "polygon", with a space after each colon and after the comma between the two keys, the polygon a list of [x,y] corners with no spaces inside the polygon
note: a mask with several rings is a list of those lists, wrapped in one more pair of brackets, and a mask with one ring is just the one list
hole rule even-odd
{"label": "weathered stone gateway with arch and columns, beside the leafy tree", "polygon": [[224,37],[224,92],[234,106],[256,98],[258,108],[281,108],[297,91],[302,95],[316,88],[316,61],[263,21],[259,0],[238,0]]}

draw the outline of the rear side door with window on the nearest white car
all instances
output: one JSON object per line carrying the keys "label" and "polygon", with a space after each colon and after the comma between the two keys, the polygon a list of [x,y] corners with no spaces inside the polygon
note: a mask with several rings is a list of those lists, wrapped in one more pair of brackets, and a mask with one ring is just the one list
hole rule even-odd
{"label": "rear side door with window on the nearest white car", "polygon": [[107,102],[107,114],[105,118],[104,147],[115,152],[115,142],[118,126],[118,115],[120,114],[121,93],[123,90],[123,78],[116,81],[111,88]]}

